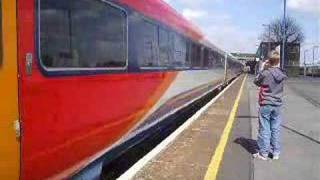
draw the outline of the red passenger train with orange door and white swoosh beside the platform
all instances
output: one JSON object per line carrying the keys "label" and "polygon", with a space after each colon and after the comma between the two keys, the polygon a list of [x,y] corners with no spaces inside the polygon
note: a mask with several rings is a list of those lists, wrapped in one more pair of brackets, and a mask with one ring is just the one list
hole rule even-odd
{"label": "red passenger train with orange door and white swoosh beside the platform", "polygon": [[99,176],[172,113],[242,73],[161,0],[0,3],[1,178]]}

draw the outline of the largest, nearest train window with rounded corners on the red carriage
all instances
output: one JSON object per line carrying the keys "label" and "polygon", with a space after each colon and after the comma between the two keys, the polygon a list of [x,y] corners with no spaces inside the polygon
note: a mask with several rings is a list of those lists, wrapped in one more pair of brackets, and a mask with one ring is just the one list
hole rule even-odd
{"label": "largest, nearest train window with rounded corners on the red carriage", "polygon": [[49,70],[125,68],[126,13],[98,0],[41,0],[40,53]]}

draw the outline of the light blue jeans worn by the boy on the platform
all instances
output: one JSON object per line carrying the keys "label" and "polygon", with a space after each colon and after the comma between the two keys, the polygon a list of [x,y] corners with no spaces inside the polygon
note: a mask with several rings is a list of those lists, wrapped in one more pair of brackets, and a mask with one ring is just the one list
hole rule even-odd
{"label": "light blue jeans worn by the boy on the platform", "polygon": [[280,106],[262,105],[259,109],[258,147],[262,156],[280,155]]}

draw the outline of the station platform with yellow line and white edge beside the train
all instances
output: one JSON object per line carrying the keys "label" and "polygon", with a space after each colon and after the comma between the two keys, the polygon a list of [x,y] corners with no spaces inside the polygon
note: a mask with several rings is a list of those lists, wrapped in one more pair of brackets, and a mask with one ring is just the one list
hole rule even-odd
{"label": "station platform with yellow line and white edge beside the train", "polygon": [[320,78],[286,82],[279,160],[257,148],[258,88],[243,75],[119,179],[319,180]]}

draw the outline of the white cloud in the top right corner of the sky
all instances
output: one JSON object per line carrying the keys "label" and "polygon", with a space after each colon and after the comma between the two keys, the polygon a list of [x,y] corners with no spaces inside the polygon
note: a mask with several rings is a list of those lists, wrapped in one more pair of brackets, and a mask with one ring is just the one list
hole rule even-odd
{"label": "white cloud in the top right corner of the sky", "polygon": [[298,12],[320,15],[319,0],[289,0],[288,7]]}

